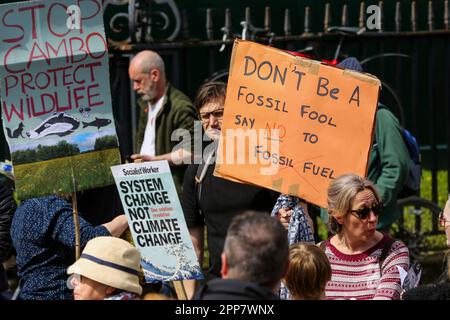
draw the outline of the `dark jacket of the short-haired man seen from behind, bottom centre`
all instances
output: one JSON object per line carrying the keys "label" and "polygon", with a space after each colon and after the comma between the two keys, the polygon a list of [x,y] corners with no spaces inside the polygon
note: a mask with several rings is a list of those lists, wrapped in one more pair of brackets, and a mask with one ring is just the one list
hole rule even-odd
{"label": "dark jacket of the short-haired man seen from behind, bottom centre", "polygon": [[271,290],[258,284],[231,279],[214,279],[195,293],[193,300],[279,300]]}

